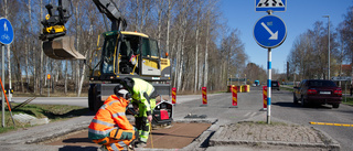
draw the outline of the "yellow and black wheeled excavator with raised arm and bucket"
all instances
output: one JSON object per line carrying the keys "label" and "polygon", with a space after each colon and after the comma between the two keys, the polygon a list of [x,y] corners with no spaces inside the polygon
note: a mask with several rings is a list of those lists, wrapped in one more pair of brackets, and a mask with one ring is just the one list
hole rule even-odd
{"label": "yellow and black wheeled excavator with raised arm and bucket", "polygon": [[[154,108],[152,125],[170,125],[172,105],[168,99],[171,90],[171,66],[168,54],[161,57],[157,41],[149,35],[125,31],[127,21],[111,0],[93,0],[93,2],[99,12],[111,21],[111,29],[101,34],[104,36],[101,48],[94,51],[100,54],[100,58],[97,63],[88,65],[89,110],[97,111],[121,79],[137,77],[151,83],[164,98]],[[57,6],[46,4],[45,8],[49,14],[41,22],[43,33],[40,35],[45,55],[54,60],[86,60],[75,50],[75,37],[66,35],[65,23],[73,12],[72,1],[57,0]],[[168,118],[161,120],[159,118],[161,115],[158,115],[161,112]]]}

